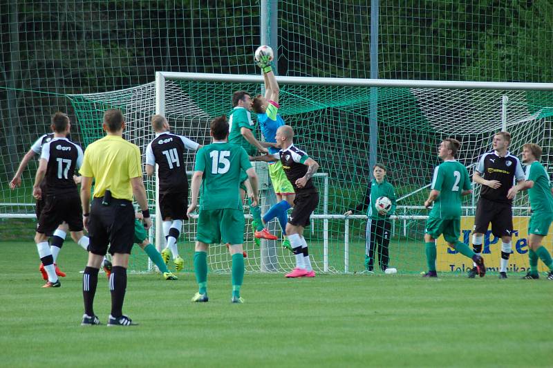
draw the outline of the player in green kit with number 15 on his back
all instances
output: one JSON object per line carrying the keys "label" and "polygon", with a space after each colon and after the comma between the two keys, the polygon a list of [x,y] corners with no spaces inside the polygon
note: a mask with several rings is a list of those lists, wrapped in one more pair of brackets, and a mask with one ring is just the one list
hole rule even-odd
{"label": "player in green kit with number 15 on his back", "polygon": [[229,243],[232,255],[232,303],[243,303],[240,288],[244,278],[244,215],[238,193],[241,174],[245,172],[252,185],[252,205],[259,201],[255,170],[243,147],[227,142],[229,124],[225,116],[215,118],[209,134],[211,145],[198,150],[191,181],[191,201],[187,214],[198,207],[200,213],[194,252],[194,273],[199,290],[192,302],[207,302],[207,247],[212,243]]}

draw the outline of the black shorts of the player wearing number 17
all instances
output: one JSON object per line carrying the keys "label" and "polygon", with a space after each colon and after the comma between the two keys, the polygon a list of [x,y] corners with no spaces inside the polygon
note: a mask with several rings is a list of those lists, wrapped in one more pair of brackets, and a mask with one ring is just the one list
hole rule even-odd
{"label": "black shorts of the player wearing number 17", "polygon": [[82,231],[82,207],[77,191],[46,196],[44,207],[39,215],[37,232],[52,234],[64,221],[69,225],[70,231]]}

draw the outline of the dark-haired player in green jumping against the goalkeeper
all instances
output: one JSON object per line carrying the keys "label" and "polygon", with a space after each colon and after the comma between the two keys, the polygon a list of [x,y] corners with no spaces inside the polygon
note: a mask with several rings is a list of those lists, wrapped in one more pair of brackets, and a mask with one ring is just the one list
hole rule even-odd
{"label": "dark-haired player in green jumping against the goalkeeper", "polygon": [[[246,91],[236,91],[232,95],[232,112],[229,117],[229,143],[234,145],[239,145],[245,149],[246,153],[249,156],[256,156],[257,151],[267,154],[268,147],[276,147],[274,142],[259,142],[256,139],[255,131],[256,125],[252,120],[252,99],[250,93]],[[244,183],[247,180],[247,175],[245,172],[241,175],[241,183]],[[250,191],[248,192],[248,201],[250,205],[250,212],[252,212],[252,217],[254,218],[254,239],[256,233],[258,238],[277,240],[275,237],[268,231],[263,231],[263,221],[261,220],[261,207],[259,205],[252,204],[252,196]],[[240,195],[242,199],[245,199],[246,196],[246,187],[241,185]],[[256,195],[258,195],[256,193]],[[259,244],[258,244],[259,245]]]}

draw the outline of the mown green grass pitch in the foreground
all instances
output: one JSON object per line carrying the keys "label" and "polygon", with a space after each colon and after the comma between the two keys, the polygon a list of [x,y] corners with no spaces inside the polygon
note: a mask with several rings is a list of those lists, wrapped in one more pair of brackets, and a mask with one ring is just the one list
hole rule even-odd
{"label": "mown green grass pitch in the foreground", "polygon": [[[140,326],[82,327],[86,254],[67,241],[62,288],[43,289],[31,242],[0,243],[0,358],[5,367],[396,367],[553,364],[553,282],[440,275],[209,275],[193,304],[191,273],[176,282],[129,275],[124,313]],[[95,312],[105,324],[100,274]]]}

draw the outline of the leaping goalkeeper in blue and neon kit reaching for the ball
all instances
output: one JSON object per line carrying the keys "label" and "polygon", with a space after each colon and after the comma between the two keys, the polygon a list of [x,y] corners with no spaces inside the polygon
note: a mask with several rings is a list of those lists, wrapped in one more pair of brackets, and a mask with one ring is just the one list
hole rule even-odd
{"label": "leaping goalkeeper in blue and neon kit reaching for the ball", "polygon": [[[274,76],[271,67],[271,57],[269,55],[261,56],[261,59],[257,62],[257,65],[263,71],[263,80],[265,82],[265,95],[257,95],[252,102],[252,109],[257,113],[257,120],[259,121],[259,127],[266,142],[276,143],[277,129],[285,125],[285,122],[279,111],[279,83]],[[278,148],[269,147],[269,154],[277,154]],[[254,221],[253,226],[264,226],[274,217],[279,219],[281,225],[282,234],[285,236],[286,223],[288,222],[288,209],[294,205],[295,192],[294,187],[286,178],[286,174],[282,168],[280,160],[275,160],[269,165],[269,176],[271,178],[272,186],[274,188],[274,194],[277,195],[277,204],[273,205],[263,216],[263,223],[258,224]],[[262,232],[267,230],[263,228]],[[259,238],[261,234],[259,231],[255,232],[255,237]],[[285,238],[283,241],[283,248],[292,249],[290,247],[290,241]]]}

